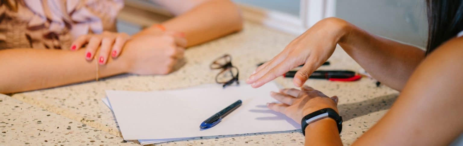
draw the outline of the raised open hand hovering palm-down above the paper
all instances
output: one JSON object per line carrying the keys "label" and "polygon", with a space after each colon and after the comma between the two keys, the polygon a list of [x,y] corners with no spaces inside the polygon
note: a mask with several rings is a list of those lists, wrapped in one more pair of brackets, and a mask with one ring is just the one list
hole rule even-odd
{"label": "raised open hand hovering palm-down above the paper", "polygon": [[247,84],[257,88],[305,64],[294,76],[294,85],[304,85],[309,76],[333,54],[336,44],[344,36],[346,22],[339,18],[325,18],[297,37],[272,60],[257,67]]}

